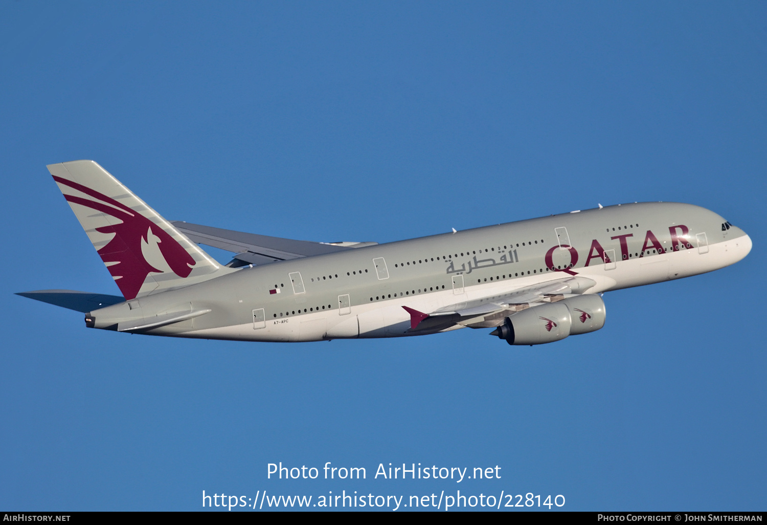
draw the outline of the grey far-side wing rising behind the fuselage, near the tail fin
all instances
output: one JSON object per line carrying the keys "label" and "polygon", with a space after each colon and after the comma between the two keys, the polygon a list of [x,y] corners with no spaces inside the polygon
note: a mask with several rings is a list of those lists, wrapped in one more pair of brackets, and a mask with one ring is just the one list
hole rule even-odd
{"label": "grey far-side wing rising behind the fuselage, near the tail fin", "polygon": [[322,255],[324,253],[336,253],[347,249],[377,244],[314,243],[312,241],[258,235],[257,233],[238,232],[233,229],[213,228],[212,226],[185,223],[180,220],[171,221],[171,223],[194,243],[234,252],[234,259],[226,265],[232,268],[249,264],[263,265],[276,263],[277,261]]}

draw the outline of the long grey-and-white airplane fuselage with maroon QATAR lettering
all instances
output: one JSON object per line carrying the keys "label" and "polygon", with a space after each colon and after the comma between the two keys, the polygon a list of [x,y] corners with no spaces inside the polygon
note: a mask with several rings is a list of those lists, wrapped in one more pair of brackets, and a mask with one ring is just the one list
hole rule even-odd
{"label": "long grey-and-white airplane fuselage with maroon QATAR lettering", "polygon": [[[751,239],[682,203],[633,203],[239,269],[89,313],[89,325],[199,311],[152,335],[320,341],[422,335],[403,308],[435,312],[525,286],[591,279],[580,293],[693,276],[736,263]],[[591,282],[594,284],[592,285]]]}

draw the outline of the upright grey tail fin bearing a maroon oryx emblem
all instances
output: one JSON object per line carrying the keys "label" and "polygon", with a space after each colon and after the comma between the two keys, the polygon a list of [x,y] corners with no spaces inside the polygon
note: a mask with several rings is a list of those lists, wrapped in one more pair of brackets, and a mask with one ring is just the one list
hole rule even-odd
{"label": "upright grey tail fin bearing a maroon oryx emblem", "polygon": [[93,160],[51,164],[48,171],[125,299],[235,271],[216,263]]}

